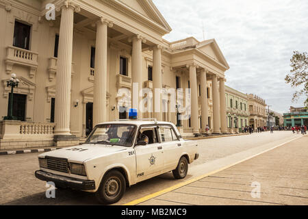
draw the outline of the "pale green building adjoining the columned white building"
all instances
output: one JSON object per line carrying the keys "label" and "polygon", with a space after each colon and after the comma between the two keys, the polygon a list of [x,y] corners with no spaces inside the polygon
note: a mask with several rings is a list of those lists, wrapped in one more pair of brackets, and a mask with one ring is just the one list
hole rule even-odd
{"label": "pale green building adjoining the columned white building", "polygon": [[248,125],[248,96],[225,86],[227,127],[229,133],[241,133],[243,127]]}

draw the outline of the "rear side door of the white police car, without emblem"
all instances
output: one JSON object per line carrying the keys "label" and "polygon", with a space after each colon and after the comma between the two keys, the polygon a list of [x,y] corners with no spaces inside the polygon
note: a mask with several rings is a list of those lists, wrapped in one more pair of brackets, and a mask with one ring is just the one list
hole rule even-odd
{"label": "rear side door of the white police car, without emblem", "polygon": [[182,145],[172,127],[158,126],[159,138],[164,149],[164,169],[173,170],[177,167],[181,155]]}

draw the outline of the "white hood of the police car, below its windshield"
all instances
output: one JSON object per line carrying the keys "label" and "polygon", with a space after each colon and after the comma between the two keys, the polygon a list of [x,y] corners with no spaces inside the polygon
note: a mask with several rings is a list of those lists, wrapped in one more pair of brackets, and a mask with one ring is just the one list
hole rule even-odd
{"label": "white hood of the police car, below its windshield", "polygon": [[107,144],[81,144],[42,153],[39,157],[61,157],[68,159],[69,162],[85,162],[87,159],[106,156],[125,150],[127,150],[127,148],[124,146],[111,146]]}

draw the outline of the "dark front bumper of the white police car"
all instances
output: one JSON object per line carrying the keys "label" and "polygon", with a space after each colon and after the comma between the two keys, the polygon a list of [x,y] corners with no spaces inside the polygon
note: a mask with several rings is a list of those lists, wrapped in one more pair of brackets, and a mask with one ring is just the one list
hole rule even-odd
{"label": "dark front bumper of the white police car", "polygon": [[42,181],[52,181],[55,186],[62,188],[72,188],[75,190],[95,190],[94,180],[76,179],[71,177],[64,177],[60,175],[55,175],[50,172],[44,172],[42,170],[36,170],[36,178]]}

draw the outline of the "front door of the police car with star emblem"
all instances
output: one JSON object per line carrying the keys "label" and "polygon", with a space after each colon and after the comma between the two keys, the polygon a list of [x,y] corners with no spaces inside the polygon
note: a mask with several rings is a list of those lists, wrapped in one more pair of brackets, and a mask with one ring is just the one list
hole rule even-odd
{"label": "front door of the police car with star emblem", "polygon": [[[151,133],[153,131],[153,140],[146,145],[136,145],[136,177],[137,181],[149,179],[159,175],[164,169],[164,151],[157,138],[155,127],[142,127],[138,133]],[[150,135],[149,135],[150,136]]]}

